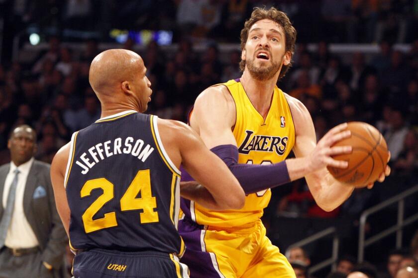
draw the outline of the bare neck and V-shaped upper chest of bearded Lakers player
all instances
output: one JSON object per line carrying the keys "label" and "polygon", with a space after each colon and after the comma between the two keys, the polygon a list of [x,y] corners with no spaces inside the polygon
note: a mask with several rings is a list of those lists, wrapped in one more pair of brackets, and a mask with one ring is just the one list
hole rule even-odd
{"label": "bare neck and V-shaped upper chest of bearded Lakers player", "polygon": [[247,69],[244,70],[241,76],[241,84],[247,93],[248,98],[254,105],[254,108],[266,118],[271,105],[271,99],[276,86],[280,71],[268,80],[257,80],[251,76]]}

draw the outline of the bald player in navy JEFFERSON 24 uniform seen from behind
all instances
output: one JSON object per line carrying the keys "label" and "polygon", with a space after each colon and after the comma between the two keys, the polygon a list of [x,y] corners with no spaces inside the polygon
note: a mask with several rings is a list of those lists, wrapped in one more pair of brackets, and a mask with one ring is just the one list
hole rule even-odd
{"label": "bald player in navy JEFFERSON 24 uniform seen from behind", "polygon": [[244,204],[238,181],[191,128],[141,114],[152,93],[145,72],[134,52],[99,54],[89,81],[101,119],[74,133],[52,162],[75,278],[189,277],[178,259],[185,250],[177,231],[181,163],[205,186],[184,186],[184,197],[211,209]]}

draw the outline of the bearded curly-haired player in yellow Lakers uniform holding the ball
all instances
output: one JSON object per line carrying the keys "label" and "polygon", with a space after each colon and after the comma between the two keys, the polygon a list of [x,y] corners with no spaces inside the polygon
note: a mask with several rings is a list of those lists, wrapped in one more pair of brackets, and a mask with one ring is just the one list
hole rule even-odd
{"label": "bearded curly-haired player in yellow Lakers uniform holding the ball", "polygon": [[[346,124],[316,143],[306,107],[276,86],[290,67],[295,41],[286,14],[256,8],[241,31],[241,78],[209,87],[195,102],[190,125],[228,165],[247,197],[242,209],[226,211],[182,200],[179,231],[187,247],[182,262],[191,278],[295,278],[260,220],[270,188],[305,177],[316,203],[328,211],[353,191],[326,170],[347,167],[331,158],[351,152],[350,146],[331,147],[350,136]],[[291,150],[296,158],[285,160]]]}

